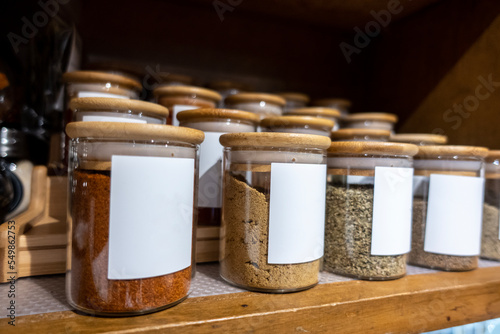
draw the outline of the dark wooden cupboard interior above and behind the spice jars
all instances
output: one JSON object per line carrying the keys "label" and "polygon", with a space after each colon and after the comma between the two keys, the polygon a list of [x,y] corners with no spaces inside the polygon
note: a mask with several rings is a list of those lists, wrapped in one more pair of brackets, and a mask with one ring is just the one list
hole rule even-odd
{"label": "dark wooden cupboard interior above and behind the spice jars", "polygon": [[[391,8],[376,34],[374,13]],[[199,84],[347,97],[354,112],[397,114],[399,132],[500,148],[496,1],[90,0],[73,9],[86,63],[120,59]],[[367,25],[373,37],[356,46]],[[357,48],[351,62],[341,43]]]}

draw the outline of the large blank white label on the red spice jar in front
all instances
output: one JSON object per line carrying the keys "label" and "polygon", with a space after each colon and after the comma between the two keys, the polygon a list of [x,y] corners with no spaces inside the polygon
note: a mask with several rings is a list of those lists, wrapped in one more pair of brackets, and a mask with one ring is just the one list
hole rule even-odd
{"label": "large blank white label on the red spice jar in front", "polygon": [[193,191],[194,159],[112,156],[108,279],[191,265]]}

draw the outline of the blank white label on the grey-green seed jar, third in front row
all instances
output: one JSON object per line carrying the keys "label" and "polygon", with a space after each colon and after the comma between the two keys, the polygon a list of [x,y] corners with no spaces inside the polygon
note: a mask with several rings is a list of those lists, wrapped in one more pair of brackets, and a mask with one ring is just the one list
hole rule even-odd
{"label": "blank white label on the grey-green seed jar, third in front row", "polygon": [[372,255],[401,255],[411,248],[413,168],[375,167]]}

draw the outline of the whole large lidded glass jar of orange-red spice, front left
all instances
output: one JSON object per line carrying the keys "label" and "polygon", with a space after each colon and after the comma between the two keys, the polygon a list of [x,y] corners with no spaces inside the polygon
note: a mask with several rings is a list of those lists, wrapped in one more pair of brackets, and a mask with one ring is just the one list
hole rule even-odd
{"label": "whole large lidded glass jar of orange-red spice, front left", "polygon": [[116,122],[72,122],[66,132],[69,304],[128,316],[184,300],[194,265],[203,132]]}

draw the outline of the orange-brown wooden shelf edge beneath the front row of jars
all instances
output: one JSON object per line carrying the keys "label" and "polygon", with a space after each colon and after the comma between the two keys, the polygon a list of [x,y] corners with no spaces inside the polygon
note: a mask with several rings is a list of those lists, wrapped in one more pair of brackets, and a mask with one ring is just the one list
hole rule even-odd
{"label": "orange-brown wooden shelf edge beneath the front row of jars", "polygon": [[411,275],[395,281],[321,284],[292,294],[242,292],[188,298],[130,318],[72,311],[23,316],[0,331],[78,333],[420,333],[500,317],[500,266]]}

